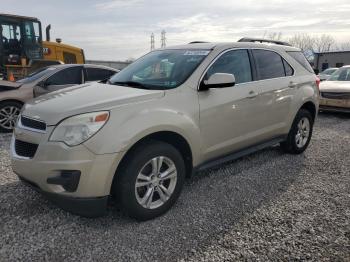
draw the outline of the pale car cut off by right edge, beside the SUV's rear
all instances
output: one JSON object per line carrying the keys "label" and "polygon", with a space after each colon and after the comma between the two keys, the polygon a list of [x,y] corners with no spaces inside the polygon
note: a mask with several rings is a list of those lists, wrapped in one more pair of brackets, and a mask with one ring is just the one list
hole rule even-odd
{"label": "pale car cut off by right edge, beside the SUV's rear", "polygon": [[335,71],[320,84],[320,110],[350,113],[350,65]]}

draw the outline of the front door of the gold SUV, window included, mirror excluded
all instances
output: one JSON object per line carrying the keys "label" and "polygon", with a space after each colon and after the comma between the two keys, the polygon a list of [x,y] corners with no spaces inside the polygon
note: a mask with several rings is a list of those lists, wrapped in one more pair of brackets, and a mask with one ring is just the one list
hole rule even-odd
{"label": "front door of the gold SUV, window included, mirror excluded", "polygon": [[265,122],[261,118],[260,84],[254,81],[248,50],[233,49],[222,54],[208,69],[230,73],[236,85],[199,92],[202,151],[205,160],[260,142]]}

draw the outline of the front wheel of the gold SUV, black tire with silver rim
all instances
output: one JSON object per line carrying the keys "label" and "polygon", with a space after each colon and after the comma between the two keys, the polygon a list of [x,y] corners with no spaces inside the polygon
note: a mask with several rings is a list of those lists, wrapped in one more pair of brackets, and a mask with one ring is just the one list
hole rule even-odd
{"label": "front wheel of the gold SUV, black tire with silver rim", "polygon": [[[184,160],[175,147],[149,141],[133,150],[123,161],[114,192],[130,217],[149,220],[173,206],[180,196],[185,175]],[[162,180],[160,177],[163,176],[169,178]]]}

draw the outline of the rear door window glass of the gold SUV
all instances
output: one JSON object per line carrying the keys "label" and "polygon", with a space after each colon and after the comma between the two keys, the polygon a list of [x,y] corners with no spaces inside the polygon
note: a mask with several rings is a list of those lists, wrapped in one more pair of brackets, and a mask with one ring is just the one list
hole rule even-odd
{"label": "rear door window glass of the gold SUV", "polygon": [[284,66],[279,54],[268,50],[253,50],[258,79],[284,77]]}

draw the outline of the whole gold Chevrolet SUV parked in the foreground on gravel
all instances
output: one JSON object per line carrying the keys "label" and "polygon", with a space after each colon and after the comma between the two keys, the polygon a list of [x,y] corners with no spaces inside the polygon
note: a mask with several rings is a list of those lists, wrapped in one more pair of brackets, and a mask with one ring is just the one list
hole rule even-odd
{"label": "whole gold Chevrolet SUV parked in the foreground on gravel", "polygon": [[317,78],[299,49],[252,42],[156,50],[105,84],[28,102],[12,139],[14,172],[68,211],[102,215],[114,196],[146,220],[166,212],[196,170],[276,143],[302,153]]}

